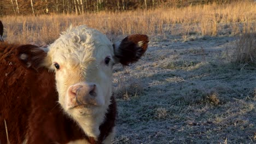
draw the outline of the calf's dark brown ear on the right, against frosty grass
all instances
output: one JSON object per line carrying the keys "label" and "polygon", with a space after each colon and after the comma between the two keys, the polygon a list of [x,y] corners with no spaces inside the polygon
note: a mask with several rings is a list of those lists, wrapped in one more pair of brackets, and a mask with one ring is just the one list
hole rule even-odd
{"label": "calf's dark brown ear on the right, against frosty grass", "polygon": [[113,44],[115,58],[123,65],[135,63],[147,50],[148,42],[147,35],[129,35],[120,43]]}

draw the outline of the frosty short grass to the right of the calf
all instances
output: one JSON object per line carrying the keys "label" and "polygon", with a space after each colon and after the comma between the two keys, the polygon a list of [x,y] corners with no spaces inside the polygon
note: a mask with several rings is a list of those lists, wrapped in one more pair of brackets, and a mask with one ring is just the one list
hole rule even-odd
{"label": "frosty short grass to the right of the calf", "polygon": [[114,67],[113,143],[256,143],[256,67],[234,63],[237,37],[150,36]]}

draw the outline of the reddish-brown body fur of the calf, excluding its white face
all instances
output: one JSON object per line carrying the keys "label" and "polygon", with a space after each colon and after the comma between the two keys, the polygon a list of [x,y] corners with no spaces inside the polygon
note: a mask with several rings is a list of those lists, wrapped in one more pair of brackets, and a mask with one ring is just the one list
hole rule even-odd
{"label": "reddish-brown body fur of the calf, excluding its white face", "polygon": [[[10,143],[67,143],[86,139],[91,143],[102,143],[112,132],[116,104],[111,97],[108,113],[100,125],[98,141],[88,137],[76,122],[65,115],[57,103],[54,73],[39,68],[43,51],[33,45],[0,43],[0,140],[7,143],[4,120],[7,123]],[[20,53],[31,54],[26,61],[19,59]],[[39,56],[39,57],[33,57]],[[31,67],[27,62],[31,61]]]}

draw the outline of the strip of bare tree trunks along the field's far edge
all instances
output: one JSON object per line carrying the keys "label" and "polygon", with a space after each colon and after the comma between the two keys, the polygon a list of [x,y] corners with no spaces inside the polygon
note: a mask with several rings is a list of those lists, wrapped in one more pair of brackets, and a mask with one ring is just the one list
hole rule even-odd
{"label": "strip of bare tree trunks along the field's far edge", "polygon": [[0,16],[51,13],[83,14],[98,11],[127,11],[193,4],[230,3],[238,0],[1,0]]}

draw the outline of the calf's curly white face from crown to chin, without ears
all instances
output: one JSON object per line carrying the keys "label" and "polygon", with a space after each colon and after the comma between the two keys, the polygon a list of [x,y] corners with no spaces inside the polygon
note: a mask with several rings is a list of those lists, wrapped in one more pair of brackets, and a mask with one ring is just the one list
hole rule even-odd
{"label": "calf's curly white face from crown to chin, without ears", "polygon": [[59,103],[72,117],[106,112],[112,93],[114,49],[107,37],[85,26],[68,29],[49,46]]}

